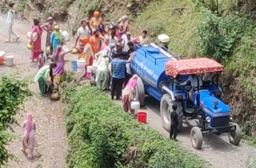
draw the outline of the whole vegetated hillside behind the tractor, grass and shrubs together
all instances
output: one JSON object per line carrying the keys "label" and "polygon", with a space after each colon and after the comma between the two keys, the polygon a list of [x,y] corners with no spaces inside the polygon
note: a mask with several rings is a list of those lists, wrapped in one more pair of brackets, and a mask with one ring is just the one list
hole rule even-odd
{"label": "whole vegetated hillside behind the tractor, grass and shrubs together", "polygon": [[224,64],[223,99],[249,135],[256,133],[255,8],[253,1],[162,0],[133,21],[136,34],[146,29],[152,40],[169,35],[169,48],[183,58],[210,57]]}

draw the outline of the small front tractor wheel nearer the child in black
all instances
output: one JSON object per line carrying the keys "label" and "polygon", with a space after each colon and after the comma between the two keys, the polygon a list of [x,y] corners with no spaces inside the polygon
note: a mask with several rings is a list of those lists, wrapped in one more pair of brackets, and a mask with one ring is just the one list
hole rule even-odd
{"label": "small front tractor wheel nearer the child in black", "polygon": [[192,143],[192,147],[200,150],[203,144],[203,134],[199,127],[193,127],[190,131],[190,140]]}

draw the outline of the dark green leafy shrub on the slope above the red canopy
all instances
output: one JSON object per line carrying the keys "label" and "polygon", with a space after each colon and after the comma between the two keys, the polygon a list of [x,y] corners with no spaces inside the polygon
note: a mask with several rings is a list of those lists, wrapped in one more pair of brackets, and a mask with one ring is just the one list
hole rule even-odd
{"label": "dark green leafy shrub on the slope above the red canopy", "polygon": [[206,11],[197,30],[201,53],[221,62],[230,60],[237,42],[252,23],[249,18],[235,13],[219,17]]}

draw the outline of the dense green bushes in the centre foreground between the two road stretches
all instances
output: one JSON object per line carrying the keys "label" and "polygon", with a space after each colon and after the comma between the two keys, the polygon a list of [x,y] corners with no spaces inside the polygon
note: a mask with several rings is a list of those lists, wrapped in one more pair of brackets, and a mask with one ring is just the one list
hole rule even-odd
{"label": "dense green bushes in the centre foreground between the two road stretches", "polygon": [[138,124],[96,87],[65,86],[62,96],[68,97],[69,167],[205,167],[177,143]]}

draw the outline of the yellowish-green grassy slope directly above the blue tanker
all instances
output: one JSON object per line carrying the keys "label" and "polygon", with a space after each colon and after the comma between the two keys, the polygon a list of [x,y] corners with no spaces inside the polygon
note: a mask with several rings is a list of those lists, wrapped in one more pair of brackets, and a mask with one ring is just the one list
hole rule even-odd
{"label": "yellowish-green grassy slope directly above the blue tanker", "polygon": [[[159,34],[170,36],[169,48],[181,57],[196,55],[197,23],[201,16],[194,12],[185,0],[163,0],[152,2],[141,16],[133,22],[132,32],[149,32],[153,41]],[[139,31],[138,31],[139,30]]]}

